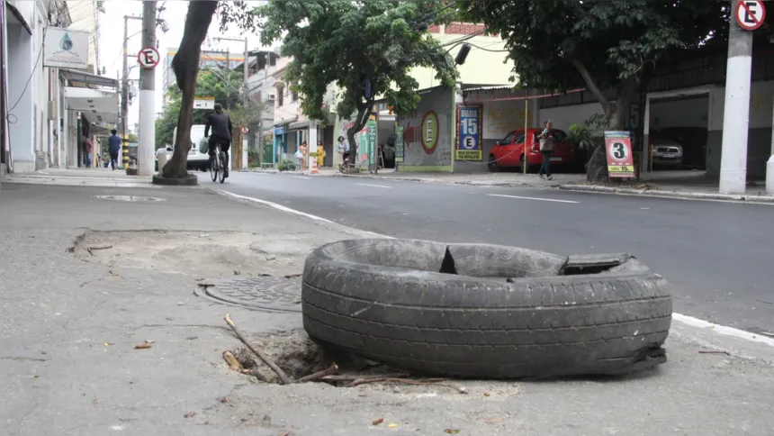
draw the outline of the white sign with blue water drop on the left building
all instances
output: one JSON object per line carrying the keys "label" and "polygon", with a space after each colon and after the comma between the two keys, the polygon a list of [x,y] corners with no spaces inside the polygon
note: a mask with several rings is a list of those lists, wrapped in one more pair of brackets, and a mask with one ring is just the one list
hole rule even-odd
{"label": "white sign with blue water drop on the left building", "polygon": [[43,43],[43,67],[89,68],[89,33],[48,27]]}

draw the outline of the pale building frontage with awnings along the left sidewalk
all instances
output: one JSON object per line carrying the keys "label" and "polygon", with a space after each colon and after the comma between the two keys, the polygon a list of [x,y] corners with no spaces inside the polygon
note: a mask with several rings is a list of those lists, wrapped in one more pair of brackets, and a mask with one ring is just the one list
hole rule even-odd
{"label": "pale building frontage with awnings along the left sidewalk", "polygon": [[[4,2],[0,21],[7,68],[0,86],[0,151],[5,170],[78,166],[81,138],[114,123],[116,81],[99,76],[103,11],[97,1]],[[103,86],[112,86],[112,92]]]}

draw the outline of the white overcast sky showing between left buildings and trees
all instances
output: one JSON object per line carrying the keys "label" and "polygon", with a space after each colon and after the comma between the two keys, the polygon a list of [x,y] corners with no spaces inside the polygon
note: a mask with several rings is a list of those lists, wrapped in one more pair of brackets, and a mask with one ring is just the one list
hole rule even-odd
{"label": "white overcast sky showing between left buildings and trees", "polygon": [[[247,2],[259,5],[264,2]],[[164,59],[168,48],[176,49],[183,39],[183,29],[185,25],[185,14],[188,11],[188,2],[179,0],[158,1],[157,5],[164,6],[165,11],[159,14],[159,18],[166,21],[169,30],[161,32],[157,29],[158,52],[161,55],[161,63],[156,68],[156,112],[161,112],[163,101],[164,85]],[[142,2],[140,0],[110,0],[104,2],[105,13],[100,17],[100,64],[106,69],[106,75],[109,77],[120,77],[121,68],[123,68],[121,53],[123,46],[123,17],[142,16]],[[137,65],[137,52],[142,48],[140,29],[142,22],[140,20],[129,20],[128,51],[130,79],[139,79],[139,66]],[[220,33],[219,19],[217,15],[212,18],[210,31],[207,34],[207,40],[202,44],[202,50],[229,50],[233,53],[243,53],[245,43],[239,41],[215,41],[215,37],[224,38],[245,38],[251,50],[260,46],[257,34],[243,34],[236,26],[231,26],[227,32]],[[135,82],[138,84],[138,82]],[[129,127],[134,130],[134,124],[139,123],[139,96],[135,96],[129,110]]]}

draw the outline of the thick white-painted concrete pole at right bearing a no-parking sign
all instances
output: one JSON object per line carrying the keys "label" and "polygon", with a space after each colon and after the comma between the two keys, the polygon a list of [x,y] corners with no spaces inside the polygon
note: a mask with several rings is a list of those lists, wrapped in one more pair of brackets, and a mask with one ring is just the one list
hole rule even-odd
{"label": "thick white-painted concrete pole at right bearing a no-parking sign", "polygon": [[[737,0],[731,1],[731,11]],[[750,124],[752,32],[745,31],[731,14],[728,65],[725,69],[723,145],[720,158],[720,193],[744,194],[747,189],[747,134]]]}

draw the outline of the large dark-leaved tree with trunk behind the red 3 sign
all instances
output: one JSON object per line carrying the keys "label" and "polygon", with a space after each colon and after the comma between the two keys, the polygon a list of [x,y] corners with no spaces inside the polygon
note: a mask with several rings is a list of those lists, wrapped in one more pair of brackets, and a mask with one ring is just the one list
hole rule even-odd
{"label": "large dark-leaved tree with trunk behind the red 3 sign", "polygon": [[[506,41],[518,86],[585,86],[609,129],[626,127],[628,106],[659,62],[725,43],[728,2],[707,0],[457,0],[464,16]],[[514,78],[515,78],[514,77]],[[614,98],[606,92],[613,91]],[[607,177],[604,153],[590,180]],[[598,156],[599,155],[599,156]],[[593,168],[592,168],[593,167]]]}

